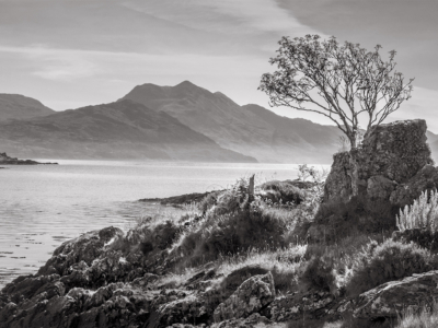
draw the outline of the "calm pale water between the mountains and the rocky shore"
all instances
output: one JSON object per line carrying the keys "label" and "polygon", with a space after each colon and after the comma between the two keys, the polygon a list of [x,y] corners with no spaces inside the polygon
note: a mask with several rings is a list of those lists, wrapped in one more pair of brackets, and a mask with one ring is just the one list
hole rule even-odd
{"label": "calm pale water between the mountains and the rocky shore", "polygon": [[[56,160],[44,160],[56,161]],[[140,198],[224,188],[255,173],[258,181],[297,176],[292,164],[57,161],[0,169],[0,288],[34,273],[56,247],[80,233],[157,211]]]}

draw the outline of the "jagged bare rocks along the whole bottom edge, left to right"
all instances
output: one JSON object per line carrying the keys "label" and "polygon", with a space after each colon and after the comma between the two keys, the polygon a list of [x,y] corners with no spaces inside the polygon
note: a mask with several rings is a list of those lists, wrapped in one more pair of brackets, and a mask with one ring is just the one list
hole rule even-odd
{"label": "jagged bare rocks along the whole bottom edge, left to right", "polygon": [[[251,266],[217,284],[205,265],[175,288],[162,274],[165,253],[146,258],[136,235],[115,227],[66,242],[35,276],[0,294],[0,327],[278,327],[307,319],[396,318],[438,296],[438,271],[388,282],[358,297],[309,290],[277,295],[269,271]],[[277,325],[277,326],[275,326]]]}

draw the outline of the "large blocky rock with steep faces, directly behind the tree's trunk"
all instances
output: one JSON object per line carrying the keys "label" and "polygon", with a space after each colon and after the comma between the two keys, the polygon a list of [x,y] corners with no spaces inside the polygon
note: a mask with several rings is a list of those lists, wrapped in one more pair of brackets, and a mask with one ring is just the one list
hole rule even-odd
{"label": "large blocky rock with steep faces, directly behind the tree's trunk", "polygon": [[371,128],[355,153],[334,155],[326,179],[324,200],[348,201],[351,196],[350,156],[358,163],[359,197],[390,200],[392,204],[412,203],[425,189],[438,186],[426,143],[426,121],[396,121]]}

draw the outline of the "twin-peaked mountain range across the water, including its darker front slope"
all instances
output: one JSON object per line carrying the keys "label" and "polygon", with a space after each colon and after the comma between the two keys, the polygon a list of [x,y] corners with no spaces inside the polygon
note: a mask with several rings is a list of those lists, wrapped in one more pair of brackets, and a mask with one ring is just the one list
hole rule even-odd
{"label": "twin-peaked mountain range across the water, including its darker front slope", "polygon": [[[19,98],[18,95],[14,97]],[[33,106],[39,104],[38,106],[45,107],[36,99],[22,97],[31,99]],[[114,106],[118,106],[117,113],[114,112]],[[0,115],[1,110],[0,107]],[[215,162],[251,162],[256,159],[265,163],[330,164],[333,154],[342,148],[342,131],[335,126],[279,116],[256,104],[240,106],[223,93],[212,93],[189,81],[174,86],[145,83],[135,86],[114,103],[65,112],[49,110],[47,113],[50,114],[45,116],[0,121],[0,130],[3,130],[0,131],[0,142],[5,148],[2,151],[26,157],[56,157],[54,155],[57,154],[60,157],[69,157],[67,150],[61,152],[57,143],[62,141],[64,147],[68,149],[72,147],[68,143],[70,140],[73,143],[73,157]],[[58,119],[59,115],[70,117],[71,124],[66,125],[66,119]],[[152,122],[147,122],[146,116],[149,120],[152,119]],[[172,130],[169,129],[171,119],[177,121],[174,121],[178,127],[177,138],[172,137]],[[145,127],[138,126],[137,120]],[[161,126],[158,132],[153,126],[157,125],[158,128],[160,121],[165,121],[165,127]],[[81,124],[83,127],[79,129]],[[72,129],[73,126],[76,130]],[[197,137],[192,139],[194,133],[197,133]],[[54,138],[57,142],[50,141]],[[427,131],[427,138],[433,155],[438,160],[438,136]],[[119,145],[115,144],[117,139],[120,139]],[[80,142],[89,143],[89,149],[81,147]],[[105,142],[108,144],[104,145]],[[161,150],[160,142],[163,148]],[[194,144],[200,145],[196,149]],[[50,147],[54,149],[50,150]],[[116,151],[117,147],[122,149]],[[141,154],[141,148],[145,147],[149,147],[149,156]],[[183,154],[183,148],[187,154]],[[218,154],[215,155],[215,151],[218,151]]]}

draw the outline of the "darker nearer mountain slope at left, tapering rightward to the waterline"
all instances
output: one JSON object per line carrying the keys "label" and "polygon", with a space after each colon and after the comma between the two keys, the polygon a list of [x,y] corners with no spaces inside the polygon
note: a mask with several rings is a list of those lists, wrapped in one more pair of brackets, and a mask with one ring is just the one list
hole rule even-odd
{"label": "darker nearer mountain slope at left, tapering rightward to the waterline", "polygon": [[1,122],[0,144],[26,157],[256,162],[131,101]]}

